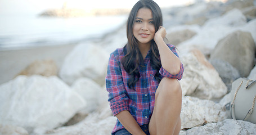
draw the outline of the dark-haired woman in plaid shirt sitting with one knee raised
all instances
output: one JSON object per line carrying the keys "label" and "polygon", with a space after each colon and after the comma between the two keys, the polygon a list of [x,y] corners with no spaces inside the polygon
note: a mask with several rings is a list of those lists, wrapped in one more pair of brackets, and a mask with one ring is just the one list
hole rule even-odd
{"label": "dark-haired woman in plaid shirt sitting with one knee raised", "polygon": [[165,35],[158,4],[138,1],[127,21],[128,42],[111,53],[107,69],[110,108],[118,118],[112,134],[179,133],[183,65]]}

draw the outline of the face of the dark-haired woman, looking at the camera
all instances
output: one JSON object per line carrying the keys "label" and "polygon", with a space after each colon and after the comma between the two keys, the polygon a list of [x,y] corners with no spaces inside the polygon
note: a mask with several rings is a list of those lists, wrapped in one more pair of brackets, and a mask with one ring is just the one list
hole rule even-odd
{"label": "face of the dark-haired woman, looking at the camera", "polygon": [[150,44],[155,35],[152,11],[149,8],[140,8],[133,25],[133,35],[139,45]]}

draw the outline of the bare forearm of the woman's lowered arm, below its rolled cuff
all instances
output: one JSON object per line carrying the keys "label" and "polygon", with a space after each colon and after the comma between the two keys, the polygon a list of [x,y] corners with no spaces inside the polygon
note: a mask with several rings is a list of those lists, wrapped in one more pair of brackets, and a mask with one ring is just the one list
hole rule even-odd
{"label": "bare forearm of the woman's lowered arm, below its rolled cuff", "polygon": [[131,113],[127,110],[121,111],[119,114],[115,115],[119,122],[124,126],[124,128],[131,134],[145,134],[142,131],[140,125],[133,118]]}

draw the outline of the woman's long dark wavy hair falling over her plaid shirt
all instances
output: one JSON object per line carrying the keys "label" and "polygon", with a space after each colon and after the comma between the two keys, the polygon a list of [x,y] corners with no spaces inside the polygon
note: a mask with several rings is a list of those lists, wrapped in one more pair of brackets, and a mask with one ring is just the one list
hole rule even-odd
{"label": "woman's long dark wavy hair falling over her plaid shirt", "polygon": [[[127,82],[129,88],[134,88],[136,82],[140,79],[140,72],[138,67],[140,66],[140,63],[143,62],[143,57],[138,48],[138,41],[133,35],[133,25],[135,17],[140,8],[149,8],[152,11],[155,33],[158,30],[159,26],[163,26],[163,16],[160,7],[154,1],[140,0],[133,6],[127,20],[128,42],[124,46],[125,56],[122,59],[122,65],[125,71],[127,71],[127,73],[131,75]],[[161,77],[159,74],[159,70],[161,68],[161,61],[158,47],[156,46],[156,43],[153,39],[151,40],[150,64],[152,65],[152,68],[157,71],[154,77],[160,83]]]}

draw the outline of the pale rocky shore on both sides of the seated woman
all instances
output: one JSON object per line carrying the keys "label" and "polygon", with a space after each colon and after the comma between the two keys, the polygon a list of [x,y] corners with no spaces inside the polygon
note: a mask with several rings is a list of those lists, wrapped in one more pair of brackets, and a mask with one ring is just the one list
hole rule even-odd
{"label": "pale rocky shore on both sides of the seated woman", "polygon": [[[230,0],[163,9],[168,42],[185,68],[180,134],[256,134],[256,124],[231,119],[226,107],[233,81],[256,80],[255,4]],[[21,69],[0,85],[0,134],[110,134],[116,118],[107,101],[107,63],[125,42],[123,25],[102,40],[70,48],[61,63],[39,57]]]}

